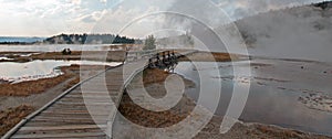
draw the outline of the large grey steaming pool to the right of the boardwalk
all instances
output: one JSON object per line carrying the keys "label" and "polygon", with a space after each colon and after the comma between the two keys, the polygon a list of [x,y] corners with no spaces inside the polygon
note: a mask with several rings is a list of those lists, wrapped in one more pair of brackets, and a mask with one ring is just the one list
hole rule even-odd
{"label": "large grey steaming pool to the right of the boardwalk", "polygon": [[[317,62],[294,62],[281,60],[253,60],[251,75],[239,73],[234,77],[235,66],[248,67],[247,62],[216,63],[198,62],[179,63],[175,72],[196,82],[188,95],[196,100],[207,96],[214,86],[221,84],[221,93],[216,115],[225,115],[232,95],[234,83],[250,85],[249,97],[240,120],[278,125],[286,128],[332,136],[332,111],[307,107],[299,99],[312,94],[332,96],[332,66]],[[217,68],[215,68],[217,67]],[[199,78],[198,75],[203,75]],[[221,82],[218,82],[220,81]],[[249,82],[250,81],[250,82]],[[199,93],[200,84],[208,88]],[[212,100],[200,105],[210,108]],[[320,99],[318,99],[320,100]]]}

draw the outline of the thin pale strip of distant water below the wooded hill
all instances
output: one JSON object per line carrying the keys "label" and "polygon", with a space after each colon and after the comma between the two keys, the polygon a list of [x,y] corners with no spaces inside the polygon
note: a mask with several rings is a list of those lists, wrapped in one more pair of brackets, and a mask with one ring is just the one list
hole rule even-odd
{"label": "thin pale strip of distant water below the wooded hill", "polygon": [[50,44],[50,45],[0,45],[0,52],[61,52],[64,49],[72,51],[114,51],[115,44]]}

